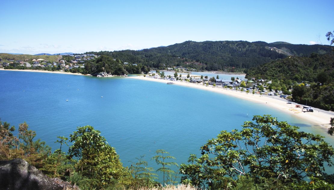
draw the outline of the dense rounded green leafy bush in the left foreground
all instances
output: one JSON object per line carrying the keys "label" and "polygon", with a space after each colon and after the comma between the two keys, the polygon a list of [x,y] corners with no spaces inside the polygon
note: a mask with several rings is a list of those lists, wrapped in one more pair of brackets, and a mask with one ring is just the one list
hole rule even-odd
{"label": "dense rounded green leafy bush in the left foreground", "polygon": [[126,176],[115,148],[108,145],[100,133],[89,125],[77,127],[77,131],[70,134],[72,145],[68,150],[70,158],[79,159],[76,171],[83,177],[96,180],[92,187],[98,188]]}

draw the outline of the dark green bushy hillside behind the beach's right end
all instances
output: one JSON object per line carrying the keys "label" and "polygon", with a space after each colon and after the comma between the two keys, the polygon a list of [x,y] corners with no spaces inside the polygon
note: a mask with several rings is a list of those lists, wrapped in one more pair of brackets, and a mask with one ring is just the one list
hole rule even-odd
{"label": "dark green bushy hillside behind the beach's right end", "polygon": [[[293,87],[297,103],[334,111],[334,54],[288,57],[248,69],[246,78],[272,79],[270,88]],[[301,84],[300,84],[301,83]],[[308,84],[308,85],[306,85]]]}

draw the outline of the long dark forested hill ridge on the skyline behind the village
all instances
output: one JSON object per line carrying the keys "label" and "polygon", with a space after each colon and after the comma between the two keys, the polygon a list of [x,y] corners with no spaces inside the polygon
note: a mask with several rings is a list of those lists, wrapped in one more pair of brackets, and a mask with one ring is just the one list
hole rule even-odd
{"label": "long dark forested hill ridge on the skyline behind the village", "polygon": [[114,52],[87,52],[96,55],[111,55],[128,63],[142,63],[159,68],[165,66],[187,66],[201,70],[223,70],[225,67],[251,68],[287,56],[310,56],[324,54],[330,46],[290,44],[287,42],[267,43],[263,41],[185,41],[174,45]]}

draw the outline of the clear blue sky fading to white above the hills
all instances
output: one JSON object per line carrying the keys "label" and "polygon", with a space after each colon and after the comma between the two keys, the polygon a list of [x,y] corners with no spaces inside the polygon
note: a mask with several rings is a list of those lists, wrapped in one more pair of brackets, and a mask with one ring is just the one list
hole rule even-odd
{"label": "clear blue sky fading to white above the hills", "polygon": [[334,0],[1,0],[0,53],[141,50],[192,41],[326,44]]}

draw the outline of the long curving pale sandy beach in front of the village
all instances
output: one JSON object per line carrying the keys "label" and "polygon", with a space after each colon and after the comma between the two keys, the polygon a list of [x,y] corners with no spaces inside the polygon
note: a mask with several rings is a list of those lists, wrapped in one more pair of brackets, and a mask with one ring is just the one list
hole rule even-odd
{"label": "long curving pale sandy beach in front of the village", "polygon": [[[130,78],[146,80],[146,81],[161,82],[161,83],[171,82],[171,81],[167,81],[163,79],[154,79],[154,78],[148,78],[144,76],[135,76],[135,77],[130,77]],[[291,114],[293,116],[306,120],[314,125],[322,126],[326,128],[330,127],[329,125],[330,118],[334,117],[334,112],[324,111],[324,110],[320,110],[317,108],[314,108],[314,112],[303,112],[301,108],[295,107],[297,103],[293,102],[292,104],[287,104],[287,100],[282,99],[282,98],[273,97],[273,96],[246,93],[246,92],[230,90],[230,89],[222,88],[222,87],[205,86],[202,84],[195,84],[195,83],[189,83],[189,82],[184,82],[184,81],[182,82],[172,81],[172,82],[174,83],[174,85],[181,85],[181,86],[226,94],[229,96],[234,96],[237,98],[257,102],[259,104],[268,105],[275,109],[282,110],[288,114]]]}

